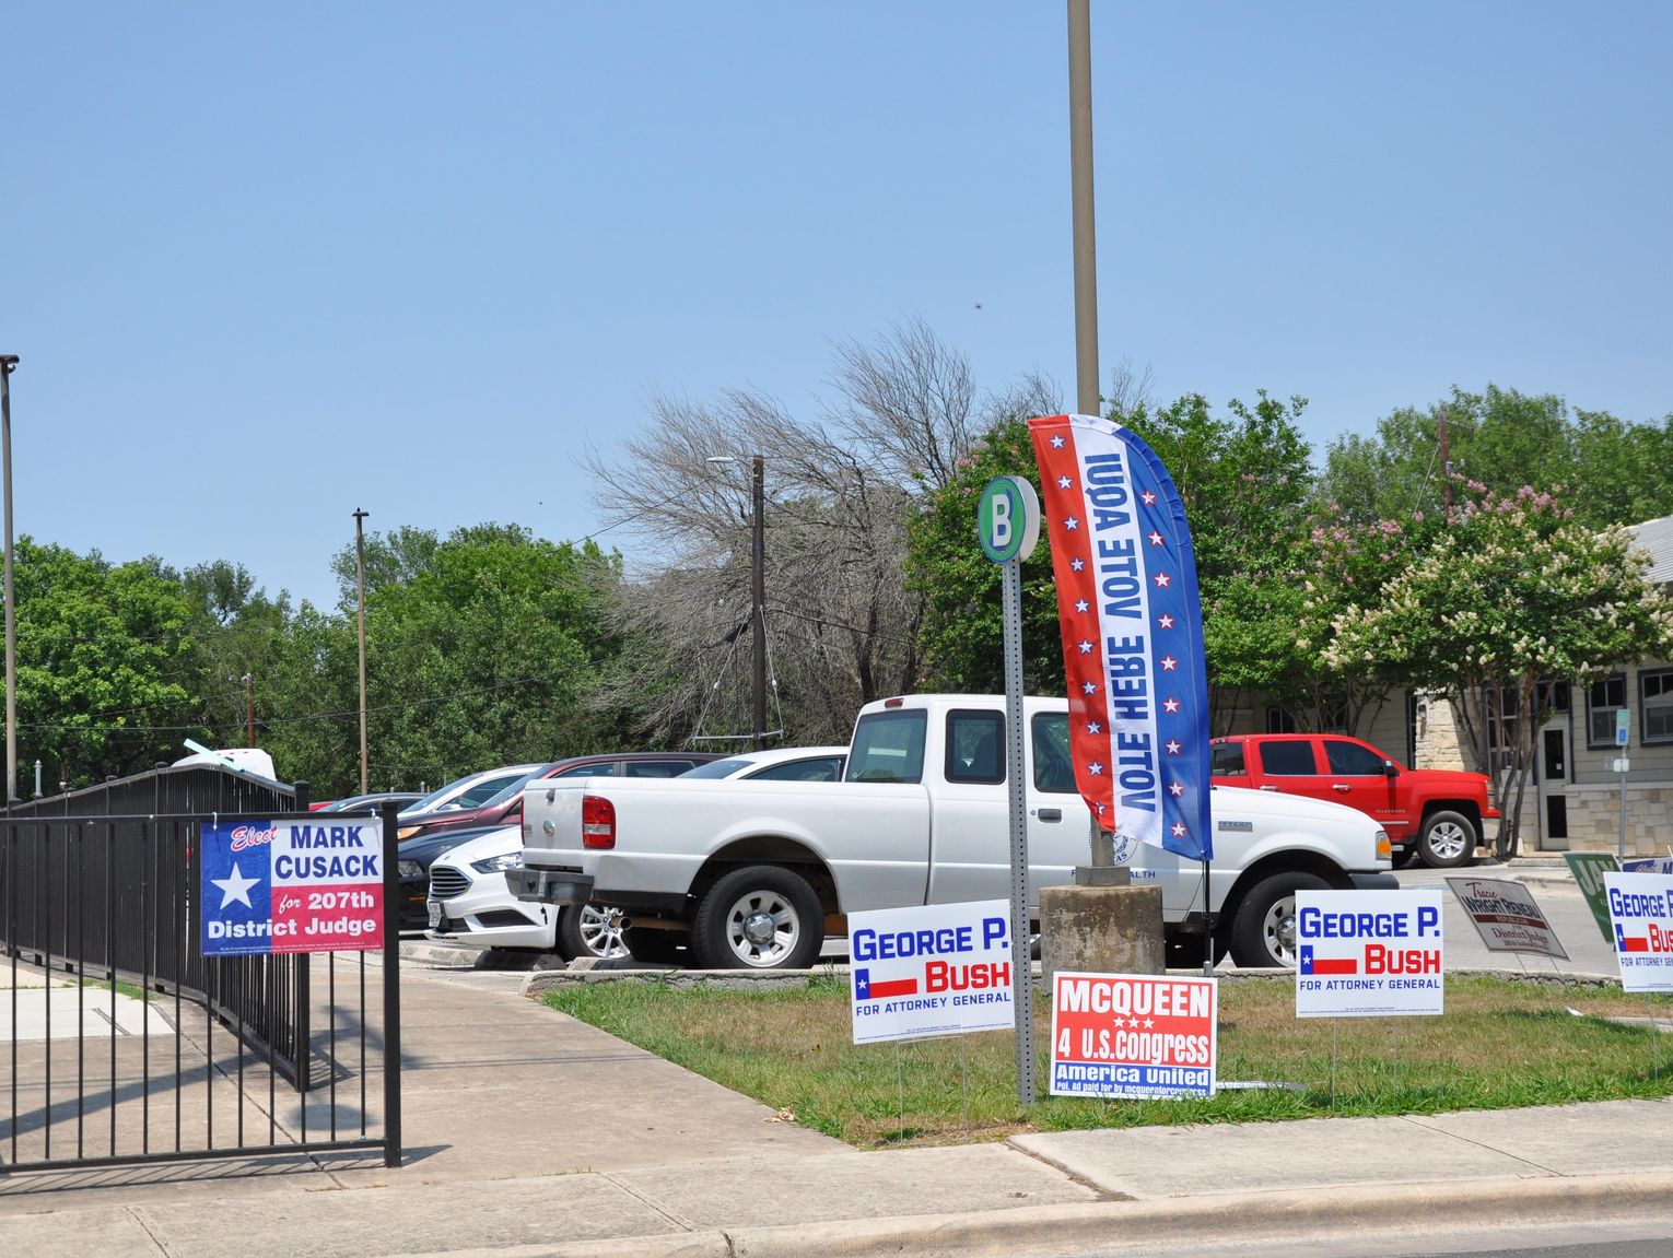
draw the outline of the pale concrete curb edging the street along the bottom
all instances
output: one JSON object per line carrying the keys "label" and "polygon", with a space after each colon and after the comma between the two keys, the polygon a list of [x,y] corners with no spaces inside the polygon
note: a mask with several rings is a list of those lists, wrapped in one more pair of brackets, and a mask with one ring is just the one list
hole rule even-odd
{"label": "pale concrete curb edging the street along the bottom", "polygon": [[1163,1201],[1019,1206],[972,1215],[830,1220],[771,1228],[622,1236],[557,1246],[455,1250],[415,1258],[873,1258],[875,1255],[1066,1255],[1225,1243],[1310,1243],[1390,1228],[1502,1233],[1548,1223],[1673,1215],[1673,1173],[1472,1179],[1226,1193]]}

